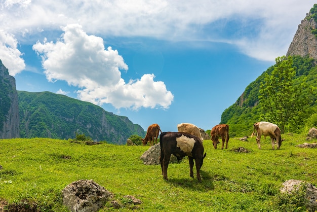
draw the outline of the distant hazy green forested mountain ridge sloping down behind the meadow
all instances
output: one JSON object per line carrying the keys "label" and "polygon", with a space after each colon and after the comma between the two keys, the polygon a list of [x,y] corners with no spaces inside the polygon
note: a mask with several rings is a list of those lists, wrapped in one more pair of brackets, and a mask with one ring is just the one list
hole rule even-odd
{"label": "distant hazy green forested mountain ridge sloping down behind the meadow", "polygon": [[18,91],[18,98],[21,137],[68,139],[78,133],[96,141],[126,144],[133,134],[145,136],[140,125],[90,102],[51,92]]}

